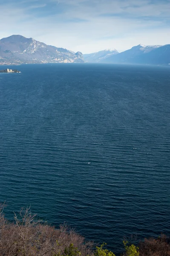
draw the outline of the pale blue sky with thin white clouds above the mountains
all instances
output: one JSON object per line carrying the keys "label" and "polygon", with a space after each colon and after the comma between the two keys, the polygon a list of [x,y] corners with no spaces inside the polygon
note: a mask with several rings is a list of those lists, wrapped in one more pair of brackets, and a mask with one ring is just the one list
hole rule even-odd
{"label": "pale blue sky with thin white clouds above the mountains", "polygon": [[74,52],[170,44],[170,0],[0,0],[0,20],[0,38]]}

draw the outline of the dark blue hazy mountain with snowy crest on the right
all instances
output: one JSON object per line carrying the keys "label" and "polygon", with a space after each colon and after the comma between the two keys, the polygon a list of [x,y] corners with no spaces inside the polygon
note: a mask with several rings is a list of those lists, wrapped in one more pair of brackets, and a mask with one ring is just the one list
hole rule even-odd
{"label": "dark blue hazy mountain with snowy crest on the right", "polygon": [[124,64],[170,64],[170,44],[160,46],[137,45],[131,49],[109,56],[99,62]]}

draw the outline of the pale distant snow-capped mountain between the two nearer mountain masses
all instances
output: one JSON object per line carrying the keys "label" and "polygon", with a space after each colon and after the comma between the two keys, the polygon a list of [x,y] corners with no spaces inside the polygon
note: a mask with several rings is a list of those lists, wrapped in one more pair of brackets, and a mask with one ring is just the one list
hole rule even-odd
{"label": "pale distant snow-capped mountain between the two nearer mountain masses", "polygon": [[83,57],[86,62],[102,62],[104,59],[115,54],[118,54],[118,51],[116,49],[114,50],[106,49],[100,52],[84,54]]}

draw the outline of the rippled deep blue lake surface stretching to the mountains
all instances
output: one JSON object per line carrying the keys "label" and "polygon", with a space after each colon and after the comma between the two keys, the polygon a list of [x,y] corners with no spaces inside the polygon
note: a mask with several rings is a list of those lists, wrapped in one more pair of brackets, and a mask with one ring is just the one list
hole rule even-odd
{"label": "rippled deep blue lake surface stretching to the mountains", "polygon": [[6,217],[31,205],[114,252],[124,236],[170,235],[170,67],[17,69],[0,73]]}

